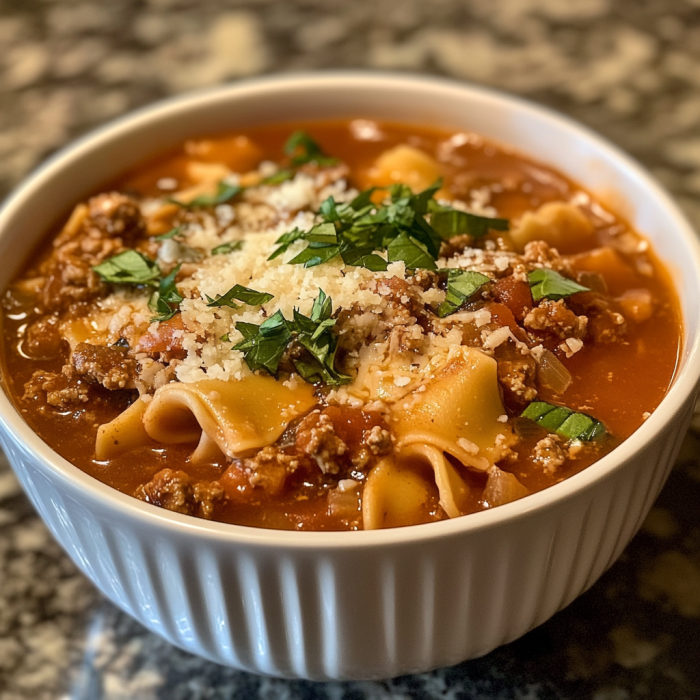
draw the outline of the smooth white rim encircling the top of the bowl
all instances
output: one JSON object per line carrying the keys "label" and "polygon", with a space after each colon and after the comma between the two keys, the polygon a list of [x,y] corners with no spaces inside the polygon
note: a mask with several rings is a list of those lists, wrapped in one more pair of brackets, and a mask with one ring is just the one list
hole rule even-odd
{"label": "smooth white rim encircling the top of the bowl", "polygon": [[[28,205],[32,193],[37,187],[40,187],[46,180],[55,177],[69,162],[79,159],[84,153],[101,143],[127,134],[133,129],[138,130],[145,123],[158,121],[173,111],[185,110],[194,106],[201,108],[201,103],[217,100],[235,101],[253,97],[256,94],[296,89],[300,85],[316,90],[337,88],[339,81],[348,86],[360,87],[372,84],[375,87],[384,87],[388,90],[391,90],[392,86],[413,87],[423,93],[432,91],[436,95],[461,93],[464,97],[497,103],[508,111],[515,110],[518,113],[527,114],[534,117],[543,126],[556,124],[569,133],[572,138],[595,145],[599,152],[620,163],[625,170],[627,180],[636,181],[650,197],[661,205],[670,223],[669,228],[674,231],[674,235],[680,236],[688,249],[696,272],[696,284],[698,283],[697,278],[700,278],[700,241],[692,226],[671,196],[647,173],[646,169],[607,139],[568,116],[522,97],[450,78],[388,71],[328,70],[273,74],[194,90],[130,111],[64,146],[25,177],[7,197],[0,209],[0,236],[3,235],[7,222],[14,216],[14,213]],[[514,147],[522,150],[517,144],[514,144]],[[536,154],[530,155],[536,157]],[[24,449],[33,453],[34,457],[40,461],[42,469],[49,471],[54,478],[60,479],[65,487],[80,498],[89,497],[93,501],[99,501],[100,505],[104,507],[105,513],[109,509],[109,511],[119,513],[122,517],[128,517],[130,520],[151,528],[172,530],[182,535],[188,533],[199,537],[205,536],[220,543],[294,550],[330,548],[346,550],[357,547],[413,545],[422,541],[466,536],[525,518],[535,512],[545,512],[592,489],[596,484],[621,469],[624,464],[634,460],[643,452],[647,443],[662,435],[666,426],[677,417],[688,399],[697,392],[697,385],[700,381],[700,333],[689,337],[688,331],[687,317],[684,316],[684,347],[682,352],[686,355],[685,363],[682,367],[677,368],[673,383],[661,403],[643,425],[608,455],[564,481],[518,501],[504,504],[492,510],[471,513],[468,516],[421,525],[382,530],[296,531],[203,520],[144,503],[83,472],[61,457],[32,430],[4,390],[0,391],[0,427],[6,434],[9,434],[9,439],[21,443]]]}

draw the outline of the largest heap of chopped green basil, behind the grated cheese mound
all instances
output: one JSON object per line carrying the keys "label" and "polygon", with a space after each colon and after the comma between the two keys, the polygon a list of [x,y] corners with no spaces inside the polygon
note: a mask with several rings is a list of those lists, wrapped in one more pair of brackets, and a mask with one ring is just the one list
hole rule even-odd
{"label": "largest heap of chopped green basil, behind the grated cheese mound", "polygon": [[[269,259],[303,240],[308,246],[290,264],[313,267],[340,256],[346,265],[373,271],[386,270],[389,262],[398,261],[411,270],[435,270],[443,238],[465,232],[484,235],[490,228],[508,228],[506,219],[489,219],[438,205],[433,197],[441,186],[438,181],[413,194],[406,185],[392,185],[388,200],[380,205],[372,203],[376,188],[361,192],[350,203],[338,203],[329,197],[318,213],[321,223],[310,231],[294,229],[280,236],[278,248]],[[438,228],[433,225],[436,217]],[[382,252],[386,258],[379,255]]]}

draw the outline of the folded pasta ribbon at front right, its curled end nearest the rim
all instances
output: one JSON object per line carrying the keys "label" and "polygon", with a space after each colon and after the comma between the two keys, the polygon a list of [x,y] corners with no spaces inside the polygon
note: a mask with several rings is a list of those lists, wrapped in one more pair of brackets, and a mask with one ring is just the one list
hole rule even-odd
{"label": "folded pasta ribbon at front right, its curled end nearest the rim", "polygon": [[370,473],[362,516],[367,530],[424,520],[431,491],[437,488],[446,515],[468,507],[469,486],[445,456],[476,471],[493,468],[512,437],[504,415],[496,362],[479,350],[462,347],[393,413],[395,456]]}

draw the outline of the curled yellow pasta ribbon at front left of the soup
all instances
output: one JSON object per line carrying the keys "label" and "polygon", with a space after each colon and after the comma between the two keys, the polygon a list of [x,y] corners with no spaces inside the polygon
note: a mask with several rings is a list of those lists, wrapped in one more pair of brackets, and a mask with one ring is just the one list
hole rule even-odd
{"label": "curled yellow pasta ribbon at front left of the soup", "polygon": [[199,441],[192,455],[195,463],[222,453],[229,458],[240,457],[274,443],[289,422],[306,413],[316,401],[308,384],[291,389],[272,377],[253,375],[231,382],[205,379],[166,384],[155,392],[150,403],[144,404],[145,411],[134,409],[139,403],[143,402],[137,401],[102,426],[98,452],[109,454],[109,437],[117,434],[122,424],[136,423],[140,411],[143,431],[137,429],[136,434],[144,442]]}

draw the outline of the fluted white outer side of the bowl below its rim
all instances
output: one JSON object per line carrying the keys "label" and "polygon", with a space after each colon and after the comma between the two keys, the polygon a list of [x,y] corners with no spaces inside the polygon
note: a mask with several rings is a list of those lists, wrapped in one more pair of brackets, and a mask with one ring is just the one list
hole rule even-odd
{"label": "fluted white outer side of the bowl below its rim", "polygon": [[692,407],[593,488],[497,527],[389,549],[290,551],[168,527],[144,536],[138,523],[66,487],[12,435],[2,444],[56,539],[148,629],[248,671],[387,678],[483,655],[591,586],[639,528]]}

